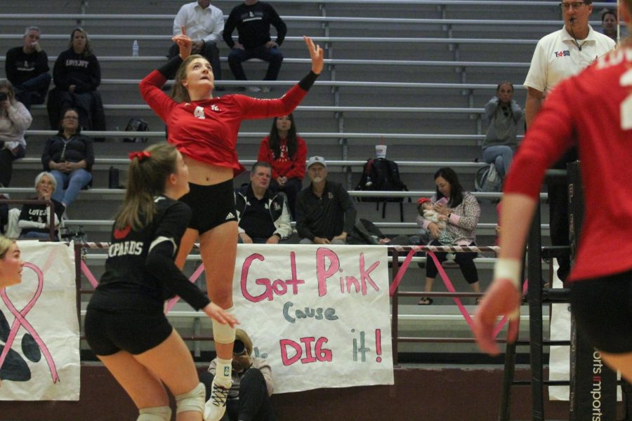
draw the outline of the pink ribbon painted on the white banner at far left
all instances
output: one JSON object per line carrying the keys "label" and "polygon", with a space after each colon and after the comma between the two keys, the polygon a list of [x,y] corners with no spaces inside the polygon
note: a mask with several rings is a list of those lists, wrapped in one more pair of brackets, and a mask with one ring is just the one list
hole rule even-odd
{"label": "pink ribbon painted on the white banner at far left", "polygon": [[11,332],[9,333],[8,340],[6,341],[6,344],[4,344],[2,354],[0,354],[0,368],[4,364],[6,354],[8,354],[9,349],[11,349],[11,345],[13,345],[13,340],[15,340],[15,335],[18,334],[18,330],[20,330],[21,325],[24,326],[27,332],[33,336],[33,339],[39,346],[39,349],[41,349],[42,354],[44,354],[44,357],[46,358],[46,362],[48,362],[48,368],[51,370],[53,383],[56,383],[59,381],[59,375],[57,374],[57,368],[55,368],[55,361],[53,361],[53,356],[51,355],[51,352],[48,351],[48,347],[46,347],[44,341],[41,340],[35,328],[25,318],[27,313],[31,311],[31,309],[34,307],[35,302],[37,302],[39,295],[41,295],[41,290],[44,289],[44,273],[41,272],[41,269],[39,269],[39,267],[33,265],[32,263],[25,263],[24,267],[33,269],[33,271],[37,274],[37,291],[35,291],[35,295],[33,295],[33,298],[31,298],[28,304],[25,305],[25,307],[18,312],[18,309],[15,308],[13,302],[11,302],[11,300],[6,295],[6,288],[0,290],[2,301],[4,301],[4,304],[6,305],[6,307],[8,307],[11,314],[15,316],[15,319],[13,319],[13,324],[11,325]]}

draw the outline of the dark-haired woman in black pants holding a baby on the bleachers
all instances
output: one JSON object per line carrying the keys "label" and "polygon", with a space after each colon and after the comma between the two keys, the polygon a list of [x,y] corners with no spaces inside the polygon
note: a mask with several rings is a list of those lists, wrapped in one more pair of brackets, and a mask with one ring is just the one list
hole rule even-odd
{"label": "dark-haired woman in black pants holding a baby on the bleachers", "polygon": [[[464,192],[452,168],[440,168],[435,173],[436,193],[430,199],[419,199],[417,223],[430,233],[430,246],[475,246],[476,225],[480,217],[478,201]],[[430,205],[428,205],[428,202]],[[450,253],[452,254],[452,253]],[[435,253],[437,260],[447,260],[448,253]],[[476,253],[454,253],[454,262],[475,293],[480,293],[478,271],[474,264]],[[437,277],[437,267],[430,256],[426,259],[426,285],[429,293]],[[476,300],[478,304],[480,299]],[[432,298],[421,297],[419,305],[431,305]]]}

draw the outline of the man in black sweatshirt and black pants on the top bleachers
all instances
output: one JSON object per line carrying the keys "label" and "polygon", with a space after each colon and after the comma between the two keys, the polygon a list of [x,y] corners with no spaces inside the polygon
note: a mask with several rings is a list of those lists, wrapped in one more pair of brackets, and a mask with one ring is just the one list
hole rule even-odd
{"label": "man in black sweatshirt and black pants on the top bleachers", "polygon": [[[277,39],[270,39],[270,25],[277,29]],[[239,40],[232,39],[232,32],[237,27]],[[245,81],[246,74],[242,62],[251,58],[258,58],[268,62],[268,72],[263,80],[275,81],[281,69],[283,55],[279,46],[283,43],[287,27],[272,6],[258,0],[245,0],[230,11],[228,20],[224,25],[223,38],[226,44],[232,48],[228,53],[228,65],[235,79]],[[260,91],[254,86],[250,91]],[[269,88],[265,88],[268,91]]]}

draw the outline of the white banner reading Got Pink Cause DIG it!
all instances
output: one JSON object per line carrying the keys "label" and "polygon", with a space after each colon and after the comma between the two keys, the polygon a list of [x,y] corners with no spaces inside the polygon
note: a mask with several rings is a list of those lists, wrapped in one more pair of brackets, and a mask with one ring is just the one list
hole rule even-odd
{"label": "white banner reading Got Pink Cause DIG it!", "polygon": [[275,393],[393,385],[385,246],[239,245],[233,285]]}

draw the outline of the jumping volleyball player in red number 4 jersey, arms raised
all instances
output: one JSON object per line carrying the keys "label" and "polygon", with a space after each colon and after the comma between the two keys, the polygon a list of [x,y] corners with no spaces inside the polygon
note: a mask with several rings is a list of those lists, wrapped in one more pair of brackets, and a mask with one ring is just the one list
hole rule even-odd
{"label": "jumping volleyball player in red number 4 jersey, arms raised", "polygon": [[[246,95],[213,98],[213,69],[200,55],[190,55],[191,40],[185,34],[173,37],[180,55],[154,70],[140,82],[145,102],[166,123],[168,141],[176,145],[189,167],[190,193],[182,201],[192,209],[192,220],[180,242],[176,264],[185,258],[199,238],[206,267],[209,298],[223,309],[232,309],[232,276],[237,255],[237,212],[232,178],[244,171],[239,164],[237,133],[244,119],[265,119],[291,113],[303,100],[322,71],[320,46],[305,36],[312,60],[311,72],[282,98],[261,100]],[[168,76],[176,72],[172,97],[162,91]],[[219,420],[231,381],[232,343],[235,328],[213,321],[218,356],[217,375],[206,403],[204,419]]]}

